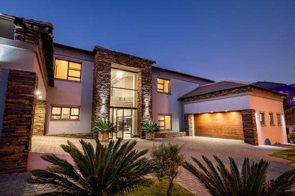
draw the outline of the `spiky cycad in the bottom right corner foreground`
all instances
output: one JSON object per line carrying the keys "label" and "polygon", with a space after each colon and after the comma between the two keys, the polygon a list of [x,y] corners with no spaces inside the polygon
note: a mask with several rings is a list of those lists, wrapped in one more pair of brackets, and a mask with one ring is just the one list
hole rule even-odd
{"label": "spiky cycad in the bottom right corner foreground", "polygon": [[206,166],[192,157],[200,169],[196,169],[187,161],[182,164],[182,167],[194,174],[212,196],[295,195],[295,192],[291,191],[295,182],[295,169],[283,173],[276,179],[266,181],[269,163],[263,159],[259,163],[252,162],[250,165],[249,159],[245,157],[242,170],[239,172],[232,157],[229,157],[230,171],[217,156],[214,156],[217,169],[206,156],[202,155],[202,157]]}

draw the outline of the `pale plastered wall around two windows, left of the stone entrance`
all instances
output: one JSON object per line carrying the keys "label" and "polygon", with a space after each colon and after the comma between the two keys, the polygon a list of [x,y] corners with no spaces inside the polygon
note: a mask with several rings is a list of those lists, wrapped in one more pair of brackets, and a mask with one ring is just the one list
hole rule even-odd
{"label": "pale plastered wall around two windows, left of the stone entrance", "polygon": [[[55,79],[47,94],[47,134],[89,133],[92,114],[93,61],[79,54],[55,48],[55,58],[82,63],[81,83]],[[75,58],[75,56],[77,58]],[[80,106],[79,121],[51,121],[51,106]]]}

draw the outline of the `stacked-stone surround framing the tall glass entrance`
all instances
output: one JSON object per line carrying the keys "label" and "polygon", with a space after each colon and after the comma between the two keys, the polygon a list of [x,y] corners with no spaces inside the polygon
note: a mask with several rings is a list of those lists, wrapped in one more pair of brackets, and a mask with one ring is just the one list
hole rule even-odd
{"label": "stacked-stone surround framing the tall glass entrance", "polygon": [[137,136],[141,138],[142,123],[152,121],[151,66],[155,61],[97,46],[94,51],[92,123],[97,118],[110,118],[112,63],[140,69],[137,91]]}

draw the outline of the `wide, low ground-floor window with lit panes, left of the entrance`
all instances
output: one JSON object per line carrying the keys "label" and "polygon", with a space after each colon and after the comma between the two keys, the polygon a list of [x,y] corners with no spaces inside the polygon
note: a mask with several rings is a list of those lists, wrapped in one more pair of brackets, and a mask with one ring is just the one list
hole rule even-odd
{"label": "wide, low ground-floor window with lit panes, left of the entrance", "polygon": [[78,107],[56,107],[51,108],[50,119],[67,119],[67,120],[79,120],[80,108]]}

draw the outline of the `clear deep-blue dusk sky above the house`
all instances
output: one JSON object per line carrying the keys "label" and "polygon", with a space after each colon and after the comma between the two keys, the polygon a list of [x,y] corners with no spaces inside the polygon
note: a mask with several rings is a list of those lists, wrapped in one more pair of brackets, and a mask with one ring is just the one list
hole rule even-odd
{"label": "clear deep-blue dusk sky above the house", "polygon": [[68,46],[216,81],[295,83],[295,0],[4,0],[0,13],[50,22]]}

